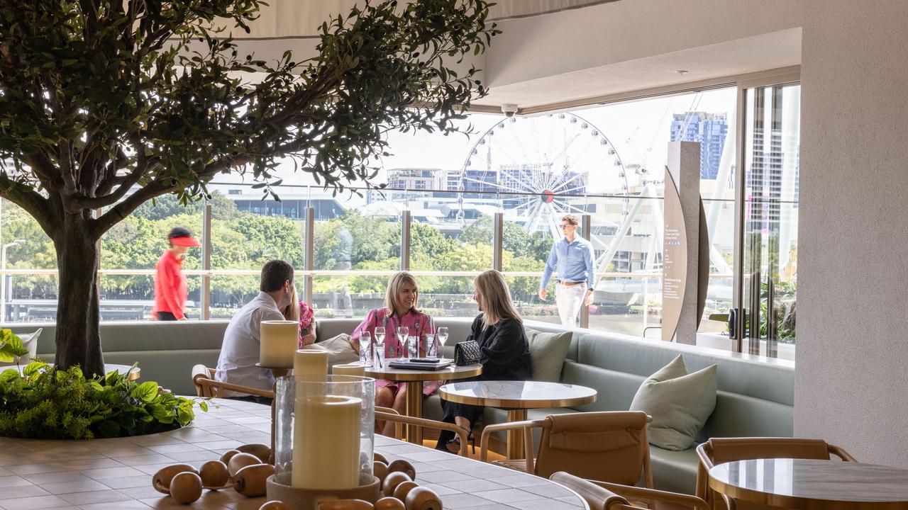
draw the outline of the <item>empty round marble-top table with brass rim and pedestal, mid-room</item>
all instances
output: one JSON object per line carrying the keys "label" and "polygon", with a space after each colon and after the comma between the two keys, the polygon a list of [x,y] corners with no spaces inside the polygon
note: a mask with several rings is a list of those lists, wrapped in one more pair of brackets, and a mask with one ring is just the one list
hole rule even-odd
{"label": "empty round marble-top table with brass rim and pedestal, mid-room", "polygon": [[[571,407],[596,402],[591,387],[543,381],[468,381],[446,384],[445,400],[508,409],[508,423],[527,419],[527,409]],[[508,458],[523,458],[523,430],[508,430]]]}

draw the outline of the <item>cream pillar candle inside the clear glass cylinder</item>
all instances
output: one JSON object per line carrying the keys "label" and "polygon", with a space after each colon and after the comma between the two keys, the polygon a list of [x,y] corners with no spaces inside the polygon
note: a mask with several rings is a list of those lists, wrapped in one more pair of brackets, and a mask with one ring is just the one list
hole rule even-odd
{"label": "cream pillar candle inside the clear glass cylinder", "polygon": [[291,485],[307,489],[360,486],[362,399],[334,395],[296,399]]}

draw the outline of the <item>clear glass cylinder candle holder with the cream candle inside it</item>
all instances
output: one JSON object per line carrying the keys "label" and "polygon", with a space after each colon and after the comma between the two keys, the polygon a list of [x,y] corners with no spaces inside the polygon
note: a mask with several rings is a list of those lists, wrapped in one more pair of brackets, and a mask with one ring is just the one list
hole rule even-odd
{"label": "clear glass cylinder candle holder with the cream candle inside it", "polygon": [[311,490],[372,483],[375,379],[278,378],[274,405],[277,481]]}

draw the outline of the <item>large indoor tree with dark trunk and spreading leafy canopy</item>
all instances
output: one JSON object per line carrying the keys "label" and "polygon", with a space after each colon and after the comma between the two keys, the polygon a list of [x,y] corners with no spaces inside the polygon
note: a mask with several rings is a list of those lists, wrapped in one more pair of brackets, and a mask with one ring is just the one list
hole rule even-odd
{"label": "large indoor tree with dark trunk and spreading leafy canopy", "polygon": [[[291,156],[326,187],[369,182],[386,132],[455,131],[485,93],[464,55],[485,0],[360,3],[317,56],[244,54],[261,0],[7,0],[0,12],[0,196],[35,217],[59,270],[56,364],[103,372],[97,241],[145,201],[243,172],[273,195]],[[220,28],[219,28],[220,27]]]}

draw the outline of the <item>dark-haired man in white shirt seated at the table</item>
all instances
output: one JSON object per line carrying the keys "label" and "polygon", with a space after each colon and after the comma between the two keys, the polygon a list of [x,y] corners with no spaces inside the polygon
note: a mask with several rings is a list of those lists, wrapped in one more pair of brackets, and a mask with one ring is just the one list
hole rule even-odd
{"label": "dark-haired man in white shirt seated at the table", "polygon": [[[271,370],[255,366],[259,362],[262,342],[260,328],[262,320],[285,320],[281,309],[291,304],[293,296],[291,265],[283,260],[269,260],[262,268],[259,290],[259,295],[246,303],[227,325],[214,379],[271,390],[274,387]],[[271,404],[270,398],[252,397],[233,391],[225,391],[224,397]]]}

